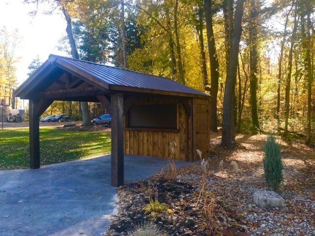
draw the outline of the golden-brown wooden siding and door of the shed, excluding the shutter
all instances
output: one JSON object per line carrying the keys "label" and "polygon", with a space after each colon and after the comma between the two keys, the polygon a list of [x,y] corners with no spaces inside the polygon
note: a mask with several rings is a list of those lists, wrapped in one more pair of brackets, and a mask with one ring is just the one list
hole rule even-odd
{"label": "golden-brown wooden siding and door of the shed, excluding the shutter", "polygon": [[[185,100],[185,106],[180,98],[137,96],[133,104],[177,104],[177,129],[125,129],[125,151],[127,154],[171,158],[169,143],[177,144],[174,158],[177,160],[197,160],[195,149],[202,149],[208,155],[210,142],[210,100]],[[190,116],[187,109],[190,109]],[[127,120],[127,116],[126,116]],[[196,133],[197,131],[197,133]],[[201,135],[201,133],[202,135]]]}

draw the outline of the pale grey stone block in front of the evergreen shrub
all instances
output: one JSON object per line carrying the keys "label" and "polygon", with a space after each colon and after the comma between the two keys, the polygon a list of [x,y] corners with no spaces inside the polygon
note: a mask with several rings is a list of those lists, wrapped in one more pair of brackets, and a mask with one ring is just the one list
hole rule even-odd
{"label": "pale grey stone block in front of the evergreen shrub", "polygon": [[284,208],[283,197],[274,191],[256,191],[253,194],[253,201],[260,208]]}

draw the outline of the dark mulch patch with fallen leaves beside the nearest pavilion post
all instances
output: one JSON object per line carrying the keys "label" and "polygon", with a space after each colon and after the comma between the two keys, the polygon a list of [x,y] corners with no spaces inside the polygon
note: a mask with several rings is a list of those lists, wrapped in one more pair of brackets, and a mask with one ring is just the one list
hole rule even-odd
{"label": "dark mulch patch with fallen leaves beside the nearest pavilion post", "polygon": [[[143,208],[149,204],[149,191],[158,191],[158,201],[167,203],[168,212],[160,212],[152,218]],[[150,179],[126,184],[117,189],[120,207],[118,216],[113,216],[107,231],[108,236],[127,235],[134,226],[146,221],[158,225],[167,235],[213,235],[213,229],[202,216],[202,206],[195,204],[198,199],[198,186],[181,182],[158,174]],[[152,196],[155,200],[155,196]],[[228,213],[229,214],[229,213]],[[230,214],[235,222],[238,217]],[[224,222],[224,217],[219,218]],[[236,227],[236,225],[234,225]],[[242,227],[238,227],[242,230]]]}

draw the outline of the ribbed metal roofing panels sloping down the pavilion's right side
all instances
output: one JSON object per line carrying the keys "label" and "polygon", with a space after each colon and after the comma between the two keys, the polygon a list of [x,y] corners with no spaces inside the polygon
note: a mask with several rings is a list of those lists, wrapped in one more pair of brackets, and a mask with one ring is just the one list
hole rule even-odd
{"label": "ribbed metal roofing panels sloping down the pavilion's right side", "polygon": [[[48,61],[56,63],[57,66],[61,66],[61,68],[74,71],[81,76],[89,77],[93,79],[94,83],[108,90],[130,91],[131,89],[134,89],[134,91],[146,93],[159,93],[158,91],[160,91],[161,94],[170,91],[172,93],[178,93],[178,95],[186,94],[191,96],[192,94],[195,94],[197,96],[210,96],[168,78],[98,64],[95,62],[71,59],[57,55],[50,55],[45,63]],[[31,77],[28,80],[30,80]],[[25,83],[27,83],[28,80]],[[19,92],[26,86],[27,85],[22,84],[20,86],[21,88],[18,88],[17,91]]]}

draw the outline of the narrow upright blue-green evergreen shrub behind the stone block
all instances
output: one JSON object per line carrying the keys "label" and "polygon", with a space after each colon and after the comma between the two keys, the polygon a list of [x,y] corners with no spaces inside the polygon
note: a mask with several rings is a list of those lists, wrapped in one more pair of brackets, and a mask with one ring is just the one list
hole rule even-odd
{"label": "narrow upright blue-green evergreen shrub behind the stone block", "polygon": [[264,142],[263,150],[265,152],[263,164],[267,185],[272,190],[278,190],[284,179],[283,164],[280,145],[276,143],[273,135],[269,135],[267,141]]}

